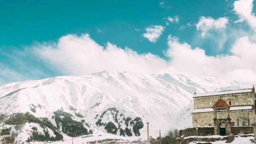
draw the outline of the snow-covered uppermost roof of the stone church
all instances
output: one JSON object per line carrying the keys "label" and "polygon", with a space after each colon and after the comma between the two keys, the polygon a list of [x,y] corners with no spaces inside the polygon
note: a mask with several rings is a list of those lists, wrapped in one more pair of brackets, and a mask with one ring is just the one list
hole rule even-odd
{"label": "snow-covered uppermost roof of the stone church", "polygon": [[196,93],[193,98],[202,97],[202,96],[217,96],[223,94],[234,94],[234,93],[250,93],[252,92],[252,88],[248,89],[240,89],[240,90],[232,90],[232,91],[217,91],[217,92],[209,92],[209,93]]}

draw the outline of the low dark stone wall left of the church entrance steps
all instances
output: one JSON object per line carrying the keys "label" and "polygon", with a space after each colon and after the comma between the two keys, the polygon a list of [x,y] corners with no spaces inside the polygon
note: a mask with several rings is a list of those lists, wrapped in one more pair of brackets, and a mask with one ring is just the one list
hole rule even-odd
{"label": "low dark stone wall left of the church entrance steps", "polygon": [[196,128],[186,128],[184,130],[179,131],[180,136],[196,136],[198,132],[198,136],[208,136],[214,135],[214,127],[200,127],[198,130]]}

